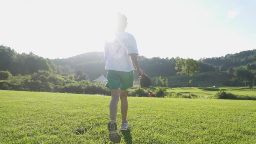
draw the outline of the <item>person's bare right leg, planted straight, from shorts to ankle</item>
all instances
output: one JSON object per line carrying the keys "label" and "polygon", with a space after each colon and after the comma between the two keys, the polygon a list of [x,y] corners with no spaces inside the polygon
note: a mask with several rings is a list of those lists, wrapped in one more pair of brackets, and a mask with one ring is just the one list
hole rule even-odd
{"label": "person's bare right leg, planted straight, from shorts to ankle", "polygon": [[122,122],[125,123],[127,119],[127,111],[128,111],[127,89],[120,90],[120,99],[121,99]]}

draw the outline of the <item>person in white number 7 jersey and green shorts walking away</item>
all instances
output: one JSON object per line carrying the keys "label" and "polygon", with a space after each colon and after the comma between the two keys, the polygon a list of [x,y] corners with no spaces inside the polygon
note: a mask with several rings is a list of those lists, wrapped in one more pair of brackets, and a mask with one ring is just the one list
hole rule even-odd
{"label": "person in white number 7 jersey and green shorts walking away", "polygon": [[134,66],[139,76],[143,73],[138,64],[136,40],[132,34],[125,32],[126,27],[126,16],[118,13],[115,40],[105,42],[105,57],[107,59],[105,67],[107,70],[106,87],[109,88],[111,92],[109,104],[110,122],[107,126],[110,141],[113,143],[119,143],[121,141],[116,124],[119,98],[121,100],[122,115],[120,130],[127,131],[129,127],[127,120],[127,89],[133,86]]}

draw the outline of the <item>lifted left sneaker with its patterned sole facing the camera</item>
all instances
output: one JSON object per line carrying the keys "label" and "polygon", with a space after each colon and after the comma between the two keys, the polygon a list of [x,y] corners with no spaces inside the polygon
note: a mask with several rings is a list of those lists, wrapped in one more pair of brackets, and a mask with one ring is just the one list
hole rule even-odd
{"label": "lifted left sneaker with its patterned sole facing the camera", "polygon": [[113,143],[120,143],[121,137],[117,130],[117,125],[115,122],[109,122],[107,125],[107,128],[109,129],[109,139]]}

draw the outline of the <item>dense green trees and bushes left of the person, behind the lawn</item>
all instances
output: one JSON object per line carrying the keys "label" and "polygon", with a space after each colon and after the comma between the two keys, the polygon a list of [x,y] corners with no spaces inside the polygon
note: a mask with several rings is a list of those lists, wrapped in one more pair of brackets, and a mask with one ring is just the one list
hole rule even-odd
{"label": "dense green trees and bushes left of the person, behind the lawn", "polygon": [[82,70],[74,72],[67,64],[57,66],[32,52],[19,54],[3,45],[0,46],[0,89],[110,95],[104,84],[91,83]]}

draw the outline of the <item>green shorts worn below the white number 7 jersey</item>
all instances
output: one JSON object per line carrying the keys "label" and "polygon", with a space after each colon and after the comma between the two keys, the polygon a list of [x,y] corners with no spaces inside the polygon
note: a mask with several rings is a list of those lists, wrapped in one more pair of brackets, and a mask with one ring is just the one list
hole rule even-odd
{"label": "green shorts worn below the white number 7 jersey", "polygon": [[107,83],[105,87],[109,89],[128,89],[133,86],[133,71],[107,70]]}

